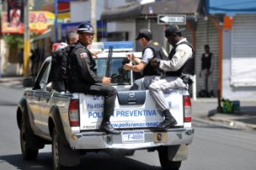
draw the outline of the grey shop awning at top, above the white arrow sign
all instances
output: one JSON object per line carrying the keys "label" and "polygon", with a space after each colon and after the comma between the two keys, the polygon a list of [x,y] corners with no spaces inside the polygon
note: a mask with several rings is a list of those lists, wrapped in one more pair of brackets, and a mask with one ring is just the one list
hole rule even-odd
{"label": "grey shop awning at top, above the white arrow sign", "polygon": [[135,19],[145,15],[156,16],[157,14],[202,14],[204,12],[203,2],[203,0],[173,0],[110,8],[102,13],[102,20]]}

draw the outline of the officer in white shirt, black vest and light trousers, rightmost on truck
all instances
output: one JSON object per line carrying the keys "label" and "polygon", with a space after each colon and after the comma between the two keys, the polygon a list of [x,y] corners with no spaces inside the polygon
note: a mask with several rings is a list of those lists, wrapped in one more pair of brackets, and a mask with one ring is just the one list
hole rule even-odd
{"label": "officer in white shirt, black vest and light trousers, rightmost on truck", "polygon": [[157,130],[166,130],[177,124],[163,92],[173,88],[188,89],[188,84],[192,82],[192,76],[195,74],[195,53],[187,39],[182,36],[182,31],[184,28],[180,29],[176,25],[167,26],[165,36],[172,45],[169,59],[153,59],[150,63],[154,67],[166,71],[166,77],[161,77],[159,81],[153,82],[149,86],[150,94],[165,116],[164,122],[157,127]]}

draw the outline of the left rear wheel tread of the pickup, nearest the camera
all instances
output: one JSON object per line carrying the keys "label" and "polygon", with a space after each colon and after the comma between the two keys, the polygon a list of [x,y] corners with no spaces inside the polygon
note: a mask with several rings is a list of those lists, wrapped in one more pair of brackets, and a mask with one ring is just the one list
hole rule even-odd
{"label": "left rear wheel tread of the pickup, nearest the camera", "polygon": [[56,133],[56,129],[54,128],[52,132],[52,144],[51,144],[52,164],[53,164],[54,170],[63,169],[60,164],[59,141],[60,139],[58,137],[58,134]]}

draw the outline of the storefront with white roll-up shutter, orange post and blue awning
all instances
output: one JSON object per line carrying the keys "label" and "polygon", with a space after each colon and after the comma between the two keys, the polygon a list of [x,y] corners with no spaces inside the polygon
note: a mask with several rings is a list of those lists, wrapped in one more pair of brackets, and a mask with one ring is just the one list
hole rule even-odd
{"label": "storefront with white roll-up shutter, orange post and blue awning", "polygon": [[[219,87],[224,99],[256,100],[256,2],[207,0],[219,20]],[[228,5],[229,4],[229,5]]]}

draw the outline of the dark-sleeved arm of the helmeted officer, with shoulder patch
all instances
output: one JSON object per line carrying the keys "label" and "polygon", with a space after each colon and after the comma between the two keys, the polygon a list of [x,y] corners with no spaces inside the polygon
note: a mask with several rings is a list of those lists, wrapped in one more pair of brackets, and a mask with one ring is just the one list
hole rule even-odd
{"label": "dark-sleeved arm of the helmeted officer, with shoulder patch", "polygon": [[90,52],[84,50],[83,48],[79,48],[76,51],[76,57],[78,59],[79,71],[86,82],[102,82],[102,78],[97,77],[96,73],[90,69]]}

